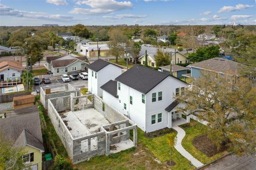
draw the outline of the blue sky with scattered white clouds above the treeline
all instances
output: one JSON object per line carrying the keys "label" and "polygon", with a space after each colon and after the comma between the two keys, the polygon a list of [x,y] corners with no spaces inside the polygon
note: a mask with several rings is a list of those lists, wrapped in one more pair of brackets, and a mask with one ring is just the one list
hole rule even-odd
{"label": "blue sky with scattered white clouds above the treeline", "polygon": [[0,25],[256,24],[256,0],[0,0]]}

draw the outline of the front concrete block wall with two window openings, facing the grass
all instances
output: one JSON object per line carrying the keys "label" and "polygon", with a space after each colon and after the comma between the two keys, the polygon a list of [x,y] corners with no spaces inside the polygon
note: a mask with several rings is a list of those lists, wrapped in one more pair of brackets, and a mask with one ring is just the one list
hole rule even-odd
{"label": "front concrete block wall with two window openings, facing the grass", "polygon": [[104,132],[74,139],[73,163],[77,164],[94,156],[104,155],[105,150],[106,140]]}

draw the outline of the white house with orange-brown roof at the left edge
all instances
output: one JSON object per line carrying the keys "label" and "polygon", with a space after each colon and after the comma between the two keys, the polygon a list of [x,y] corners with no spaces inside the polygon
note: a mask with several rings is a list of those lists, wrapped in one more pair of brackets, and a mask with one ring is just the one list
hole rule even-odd
{"label": "white house with orange-brown roof at the left edge", "polygon": [[22,65],[11,62],[4,61],[0,63],[0,81],[6,80],[16,80],[20,79],[20,75],[22,73],[23,67]]}

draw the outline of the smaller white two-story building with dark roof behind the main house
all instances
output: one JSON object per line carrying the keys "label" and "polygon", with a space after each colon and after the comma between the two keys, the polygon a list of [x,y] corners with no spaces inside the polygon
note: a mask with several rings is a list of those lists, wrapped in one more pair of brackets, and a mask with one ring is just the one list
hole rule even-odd
{"label": "smaller white two-story building with dark roof behind the main house", "polygon": [[99,97],[102,97],[102,89],[100,87],[122,74],[121,67],[101,59],[88,65],[87,69],[88,91]]}

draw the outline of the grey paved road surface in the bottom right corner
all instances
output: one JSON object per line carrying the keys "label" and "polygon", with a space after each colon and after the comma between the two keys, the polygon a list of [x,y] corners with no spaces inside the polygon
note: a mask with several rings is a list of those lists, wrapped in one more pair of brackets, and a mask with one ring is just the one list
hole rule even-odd
{"label": "grey paved road surface in the bottom right corner", "polygon": [[205,168],[205,170],[255,170],[256,155],[244,155],[242,157],[229,155],[219,162]]}

